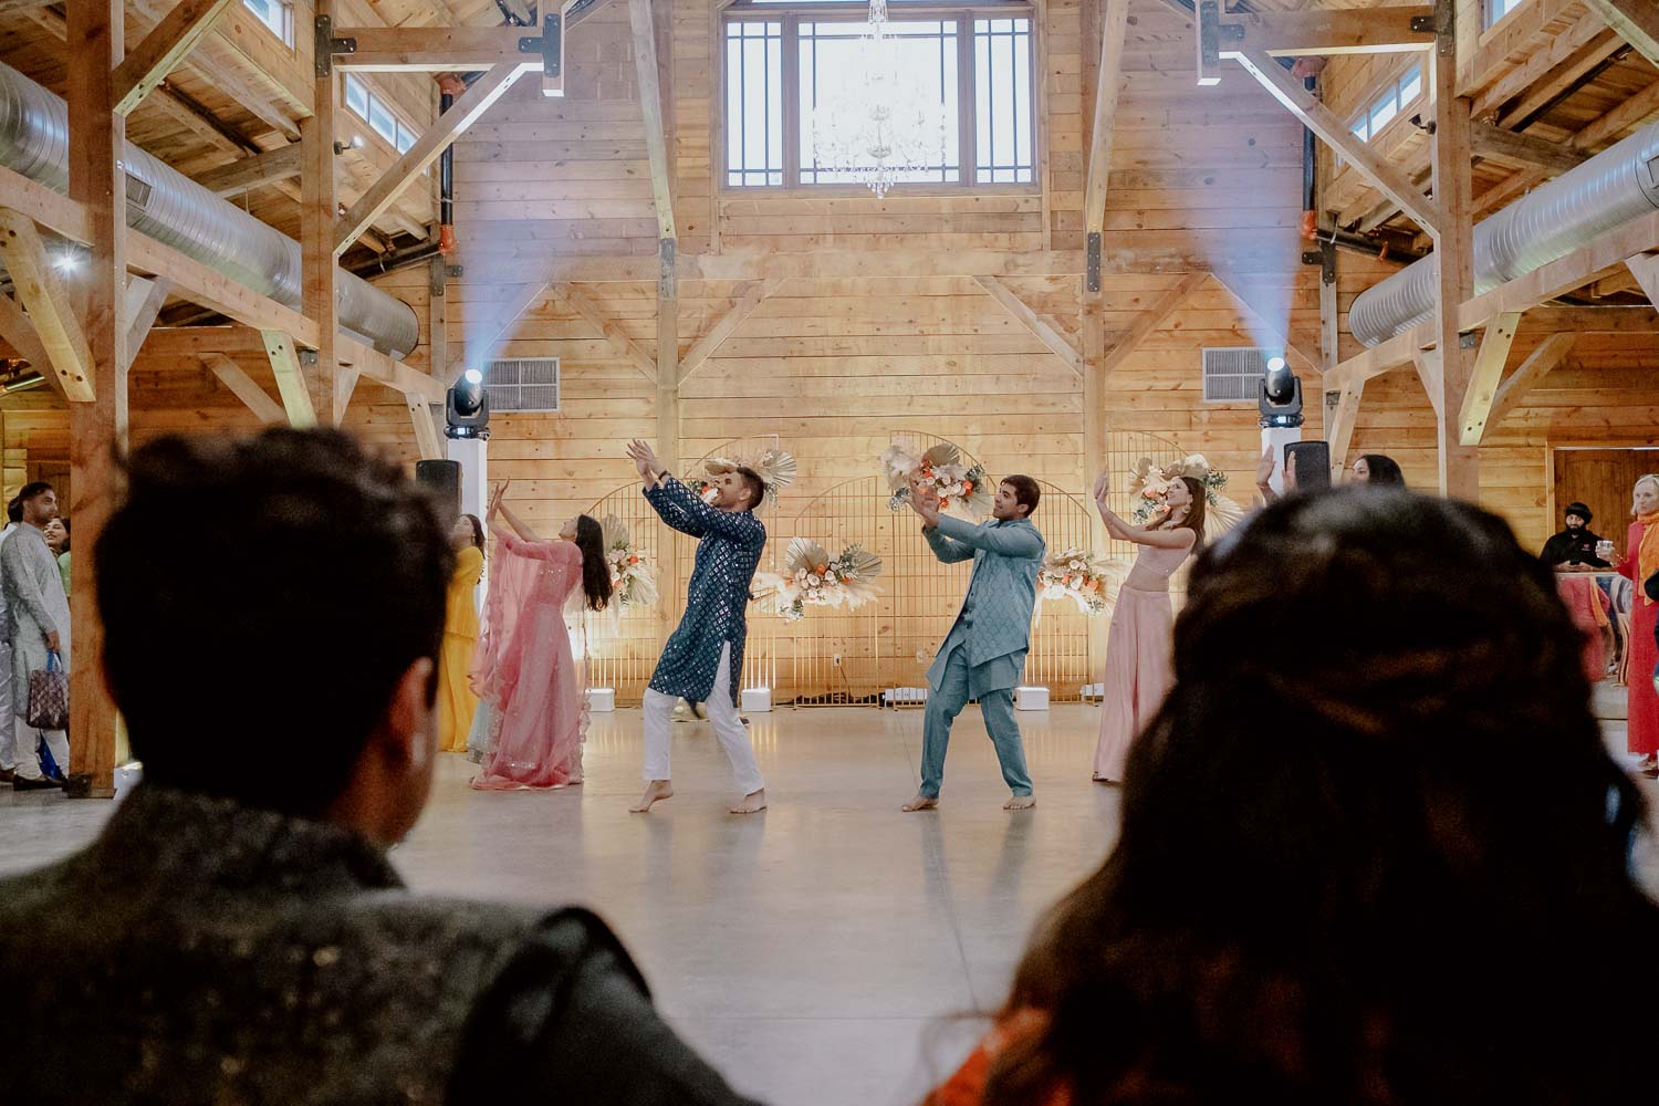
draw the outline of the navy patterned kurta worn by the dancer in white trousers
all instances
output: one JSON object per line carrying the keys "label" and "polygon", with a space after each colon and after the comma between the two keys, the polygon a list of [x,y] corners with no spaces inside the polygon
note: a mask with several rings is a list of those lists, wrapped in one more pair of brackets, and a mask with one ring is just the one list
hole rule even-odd
{"label": "navy patterned kurta worn by the dancer in white trousers", "polygon": [[720,668],[720,648],[732,647],[732,686],[723,688],[737,703],[743,672],[743,642],[748,622],[748,585],[766,547],[766,527],[748,511],[717,511],[697,494],[665,478],[645,489],[645,499],[664,522],[702,539],[685,595],[685,617],[669,637],[650,677],[654,691],[682,695],[707,703]]}

